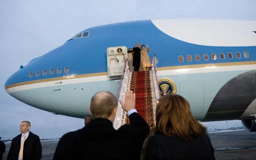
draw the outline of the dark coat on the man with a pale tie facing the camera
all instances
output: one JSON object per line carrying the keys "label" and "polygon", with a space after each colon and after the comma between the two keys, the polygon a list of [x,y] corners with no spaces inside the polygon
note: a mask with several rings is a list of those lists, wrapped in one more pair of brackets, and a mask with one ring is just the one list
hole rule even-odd
{"label": "dark coat on the man with a pale tie facing the camera", "polygon": [[[21,134],[12,139],[7,160],[17,160],[20,149]],[[42,147],[37,135],[29,132],[23,146],[23,160],[41,160]]]}

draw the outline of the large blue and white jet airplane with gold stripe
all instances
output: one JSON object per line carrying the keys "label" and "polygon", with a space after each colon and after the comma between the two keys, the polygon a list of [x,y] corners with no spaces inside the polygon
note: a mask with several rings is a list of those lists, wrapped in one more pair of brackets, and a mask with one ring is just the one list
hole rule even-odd
{"label": "large blue and white jet airplane with gold stripe", "polygon": [[[256,131],[256,21],[148,19],[95,26],[32,59],[11,75],[6,92],[35,108],[84,118],[90,98],[118,94],[132,48],[148,44],[161,94],[185,97],[201,122],[241,120]],[[123,53],[120,54],[120,52]],[[86,106],[86,107],[85,107]],[[182,118],[182,117],[180,117]]]}

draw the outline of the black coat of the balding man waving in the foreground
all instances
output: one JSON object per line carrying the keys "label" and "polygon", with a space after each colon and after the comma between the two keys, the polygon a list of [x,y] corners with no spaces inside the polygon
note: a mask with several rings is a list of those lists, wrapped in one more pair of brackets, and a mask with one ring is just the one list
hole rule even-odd
{"label": "black coat of the balding man waving in the foreground", "polygon": [[149,127],[137,113],[129,116],[129,122],[115,130],[111,121],[95,118],[62,136],[53,160],[139,160]]}

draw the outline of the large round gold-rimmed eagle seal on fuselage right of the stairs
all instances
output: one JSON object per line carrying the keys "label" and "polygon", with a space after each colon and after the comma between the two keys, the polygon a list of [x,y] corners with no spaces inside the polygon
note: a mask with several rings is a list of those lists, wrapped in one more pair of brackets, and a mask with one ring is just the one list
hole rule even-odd
{"label": "large round gold-rimmed eagle seal on fuselage right of the stairs", "polygon": [[158,85],[161,96],[166,96],[169,93],[175,94],[177,91],[176,84],[169,78],[158,79]]}

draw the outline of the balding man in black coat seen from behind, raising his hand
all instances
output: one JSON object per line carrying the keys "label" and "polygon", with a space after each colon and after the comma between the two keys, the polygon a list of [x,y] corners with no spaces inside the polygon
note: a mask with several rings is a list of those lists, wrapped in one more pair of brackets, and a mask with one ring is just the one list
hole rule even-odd
{"label": "balding man in black coat seen from behind, raising his hand", "polygon": [[89,106],[93,119],[82,129],[60,138],[53,160],[139,160],[149,127],[135,109],[132,91],[125,93],[125,102],[120,104],[130,124],[115,130],[116,97],[107,91],[97,92]]}

